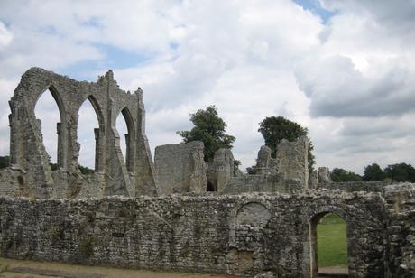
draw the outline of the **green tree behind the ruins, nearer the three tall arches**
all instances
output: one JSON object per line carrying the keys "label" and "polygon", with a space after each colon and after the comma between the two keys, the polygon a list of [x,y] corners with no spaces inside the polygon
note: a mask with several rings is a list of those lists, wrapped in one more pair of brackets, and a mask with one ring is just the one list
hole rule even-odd
{"label": "green tree behind the ruins, nearer the three tall arches", "polygon": [[[235,137],[226,134],[226,123],[217,115],[217,107],[209,106],[206,109],[198,109],[190,114],[190,121],[193,123],[191,130],[178,131],[183,138],[183,143],[201,141],[205,144],[205,161],[213,160],[215,152],[220,148],[232,148]],[[238,161],[235,161],[238,164]]]}

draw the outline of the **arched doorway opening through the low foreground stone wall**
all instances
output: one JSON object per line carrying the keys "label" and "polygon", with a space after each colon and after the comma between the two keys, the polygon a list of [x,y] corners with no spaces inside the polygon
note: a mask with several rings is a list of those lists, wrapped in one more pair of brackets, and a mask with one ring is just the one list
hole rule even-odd
{"label": "arched doorway opening through the low foreground stone wall", "polygon": [[312,277],[348,274],[346,221],[326,212],[311,221]]}

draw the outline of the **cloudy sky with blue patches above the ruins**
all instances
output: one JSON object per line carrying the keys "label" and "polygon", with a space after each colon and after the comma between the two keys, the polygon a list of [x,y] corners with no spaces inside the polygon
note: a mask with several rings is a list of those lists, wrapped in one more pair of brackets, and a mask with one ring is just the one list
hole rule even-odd
{"label": "cloudy sky with blue patches above the ruins", "polygon": [[[243,167],[265,116],[308,127],[318,166],[415,165],[414,45],[413,0],[1,0],[0,155],[7,101],[37,66],[89,81],[112,69],[121,88],[143,88],[152,151],[180,143],[189,114],[214,104]],[[48,93],[36,115],[54,157]],[[80,161],[92,166],[97,121],[88,103],[80,116]]]}

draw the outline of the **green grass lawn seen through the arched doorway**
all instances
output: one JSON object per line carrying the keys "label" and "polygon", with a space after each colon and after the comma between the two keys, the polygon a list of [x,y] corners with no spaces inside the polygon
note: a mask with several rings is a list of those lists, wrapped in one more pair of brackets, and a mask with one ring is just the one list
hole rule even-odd
{"label": "green grass lawn seen through the arched doorway", "polygon": [[318,266],[347,265],[346,222],[327,214],[317,226]]}

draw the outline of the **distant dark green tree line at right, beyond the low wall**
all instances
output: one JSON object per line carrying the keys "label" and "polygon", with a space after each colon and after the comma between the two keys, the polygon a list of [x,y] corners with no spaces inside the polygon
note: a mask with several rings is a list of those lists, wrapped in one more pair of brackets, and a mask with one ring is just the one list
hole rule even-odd
{"label": "distant dark green tree line at right, beyond the low wall", "polygon": [[331,171],[331,180],[339,181],[409,181],[415,182],[415,168],[407,163],[388,165],[382,169],[378,164],[373,163],[364,167],[363,176],[353,171],[335,168]]}

